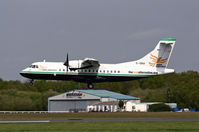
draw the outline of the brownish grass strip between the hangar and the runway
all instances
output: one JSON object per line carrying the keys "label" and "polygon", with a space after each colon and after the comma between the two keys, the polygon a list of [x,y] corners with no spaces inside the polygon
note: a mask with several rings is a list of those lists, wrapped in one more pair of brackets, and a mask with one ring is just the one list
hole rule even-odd
{"label": "brownish grass strip between the hangar and the runway", "polygon": [[85,118],[199,118],[199,112],[120,112],[0,114],[0,120],[49,120]]}

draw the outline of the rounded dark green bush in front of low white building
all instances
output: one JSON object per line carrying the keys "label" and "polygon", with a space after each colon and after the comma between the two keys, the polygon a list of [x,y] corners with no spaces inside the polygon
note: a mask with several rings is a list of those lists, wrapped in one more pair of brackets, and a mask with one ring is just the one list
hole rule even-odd
{"label": "rounded dark green bush in front of low white building", "polygon": [[162,111],[171,111],[171,108],[168,105],[165,105],[163,103],[161,104],[152,104],[149,107],[150,112],[162,112]]}

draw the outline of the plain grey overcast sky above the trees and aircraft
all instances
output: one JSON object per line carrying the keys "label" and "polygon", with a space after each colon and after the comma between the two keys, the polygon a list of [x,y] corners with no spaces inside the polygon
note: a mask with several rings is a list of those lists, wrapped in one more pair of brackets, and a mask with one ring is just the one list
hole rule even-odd
{"label": "plain grey overcast sky above the trees and aircraft", "polygon": [[169,68],[199,70],[199,0],[1,0],[0,77],[35,61],[133,61],[176,38]]}

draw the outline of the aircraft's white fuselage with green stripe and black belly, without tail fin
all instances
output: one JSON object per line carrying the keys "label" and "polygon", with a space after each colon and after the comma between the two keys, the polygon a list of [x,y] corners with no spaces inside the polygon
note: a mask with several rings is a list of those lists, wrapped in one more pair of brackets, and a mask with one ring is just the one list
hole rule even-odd
{"label": "aircraft's white fuselage with green stripe and black belly, without tail fin", "polygon": [[[82,60],[70,61],[71,67],[79,67]],[[135,62],[136,63],[136,62]],[[70,70],[63,62],[36,62],[20,74],[30,79],[74,80],[78,82],[129,81],[172,73],[172,69],[142,66],[141,64],[100,64],[97,68]]]}

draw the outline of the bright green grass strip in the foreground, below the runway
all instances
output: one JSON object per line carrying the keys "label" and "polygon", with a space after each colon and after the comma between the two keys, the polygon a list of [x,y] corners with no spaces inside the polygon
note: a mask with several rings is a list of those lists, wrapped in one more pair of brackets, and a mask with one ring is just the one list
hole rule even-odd
{"label": "bright green grass strip in the foreground, below the runway", "polygon": [[75,122],[0,124],[2,132],[198,132],[199,122]]}

